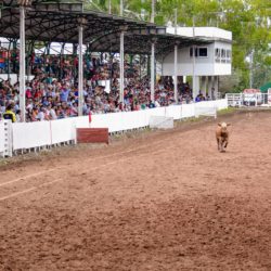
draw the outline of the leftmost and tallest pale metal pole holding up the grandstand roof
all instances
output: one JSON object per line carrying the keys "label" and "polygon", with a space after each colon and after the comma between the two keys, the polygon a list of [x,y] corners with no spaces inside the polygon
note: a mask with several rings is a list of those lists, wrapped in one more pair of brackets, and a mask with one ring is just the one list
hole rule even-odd
{"label": "leftmost and tallest pale metal pole holding up the grandstand roof", "polygon": [[20,109],[25,122],[25,7],[20,7]]}

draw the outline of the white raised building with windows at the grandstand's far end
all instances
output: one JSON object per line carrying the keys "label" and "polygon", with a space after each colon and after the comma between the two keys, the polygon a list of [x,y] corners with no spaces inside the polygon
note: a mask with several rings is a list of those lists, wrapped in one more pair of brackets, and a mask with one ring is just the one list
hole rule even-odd
{"label": "white raised building with windows at the grandstand's far end", "polygon": [[[167,28],[175,34],[175,27]],[[193,35],[194,34],[194,35]],[[205,95],[218,93],[218,77],[231,75],[232,72],[232,33],[216,27],[178,27],[177,35],[197,37],[208,41],[202,46],[181,47],[178,50],[178,76],[193,76],[194,96],[202,91]],[[162,62],[162,75],[175,75],[175,52],[169,53]],[[212,91],[211,91],[212,90]],[[212,92],[212,93],[211,93]]]}

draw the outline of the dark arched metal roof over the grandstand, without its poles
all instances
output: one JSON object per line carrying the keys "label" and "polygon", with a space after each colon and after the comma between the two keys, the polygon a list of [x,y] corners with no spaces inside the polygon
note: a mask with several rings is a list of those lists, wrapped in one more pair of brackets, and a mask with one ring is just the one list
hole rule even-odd
{"label": "dark arched metal roof over the grandstand, without its poles", "polygon": [[[20,9],[16,0],[2,0],[0,33],[2,37],[18,38]],[[120,30],[125,30],[125,52],[151,52],[151,43],[156,41],[156,53],[166,54],[179,47],[208,43],[207,39],[175,36],[166,33],[166,27],[157,27],[142,21],[108,15],[94,11],[83,11],[81,2],[42,2],[34,0],[27,8],[25,21],[26,39],[37,41],[78,42],[78,21],[85,18],[83,43],[91,51],[118,52]]]}

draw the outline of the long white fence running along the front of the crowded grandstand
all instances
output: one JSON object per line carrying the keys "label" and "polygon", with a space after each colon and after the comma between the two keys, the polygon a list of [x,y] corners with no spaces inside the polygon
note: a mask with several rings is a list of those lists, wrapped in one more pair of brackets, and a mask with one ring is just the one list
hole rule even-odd
{"label": "long white fence running along the front of the crowded grandstand", "polygon": [[[193,104],[171,105],[167,107],[157,107],[153,109],[138,112],[119,112],[101,115],[92,115],[92,121],[89,124],[89,117],[65,118],[52,121],[37,122],[15,122],[12,124],[9,131],[10,152],[4,149],[4,122],[0,121],[0,154],[11,156],[12,152],[26,152],[47,149],[59,144],[76,143],[76,128],[108,128],[109,133],[126,130],[140,129],[149,127],[151,116],[173,117],[182,119],[194,117],[196,114],[204,114],[210,108],[222,109],[228,107],[228,101],[217,100]],[[198,113],[198,108],[202,109]],[[7,134],[5,134],[7,138]],[[5,151],[4,151],[5,150]]]}

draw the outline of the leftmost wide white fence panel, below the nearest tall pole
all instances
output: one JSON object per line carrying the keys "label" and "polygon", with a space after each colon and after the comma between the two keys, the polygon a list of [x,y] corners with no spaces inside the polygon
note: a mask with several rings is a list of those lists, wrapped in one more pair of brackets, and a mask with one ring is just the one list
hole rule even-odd
{"label": "leftmost wide white fence panel, below the nearest tall pole", "polygon": [[51,144],[50,121],[13,124],[12,129],[14,151]]}

